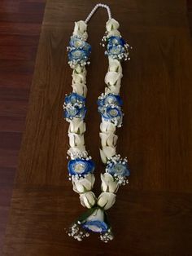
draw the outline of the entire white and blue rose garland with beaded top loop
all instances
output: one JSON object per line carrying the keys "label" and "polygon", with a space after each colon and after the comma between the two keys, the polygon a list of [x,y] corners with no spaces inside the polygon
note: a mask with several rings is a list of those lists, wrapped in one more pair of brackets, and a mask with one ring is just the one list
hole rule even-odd
{"label": "entire white and blue rose garland with beaded top loop", "polygon": [[[108,20],[106,33],[102,38],[102,46],[106,47],[105,55],[108,57],[108,70],[105,77],[105,91],[98,97],[98,112],[101,114],[100,124],[101,149],[100,156],[106,165],[105,172],[101,174],[101,194],[98,198],[92,192],[94,186],[95,164],[85,149],[85,97],[86,64],[90,64],[89,55],[91,46],[86,42],[88,34],[87,24],[98,7],[107,9]],[[90,232],[98,232],[102,241],[113,239],[111,225],[106,210],[110,209],[116,201],[116,192],[121,185],[128,182],[129,168],[127,158],[116,153],[116,127],[122,125],[123,113],[120,98],[120,82],[122,75],[122,60],[129,60],[129,44],[124,42],[120,35],[120,24],[111,18],[110,8],[98,3],[89,13],[85,21],[75,22],[74,31],[69,42],[68,64],[72,68],[72,93],[66,95],[63,108],[65,119],[69,122],[68,137],[70,148],[68,156],[68,177],[72,181],[73,190],[79,193],[81,205],[88,208],[72,223],[68,236],[81,241]],[[68,157],[67,157],[68,158]]]}

